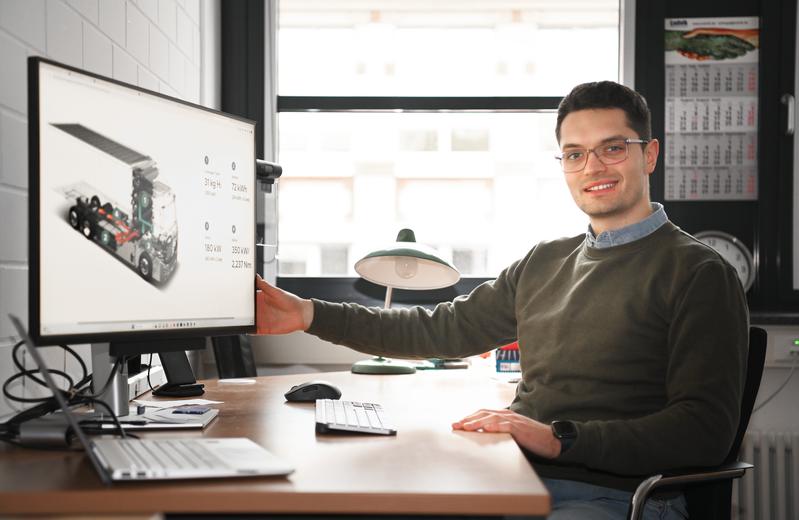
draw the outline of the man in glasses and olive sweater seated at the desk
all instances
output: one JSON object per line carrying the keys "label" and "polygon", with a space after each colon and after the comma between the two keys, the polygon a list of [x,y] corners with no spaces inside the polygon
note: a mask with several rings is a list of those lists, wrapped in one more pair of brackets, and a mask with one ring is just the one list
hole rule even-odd
{"label": "man in glasses and olive sweater seated at the desk", "polygon": [[[726,456],[746,302],[735,270],[650,202],[659,143],[640,95],[579,85],[555,134],[587,233],[537,244],[433,311],[303,300],[259,279],[258,328],[394,357],[461,357],[518,339],[523,378],[509,409],[453,428],[510,433],[552,495],[551,519],[625,518],[642,476]],[[652,499],[645,514],[684,518],[684,498]]]}

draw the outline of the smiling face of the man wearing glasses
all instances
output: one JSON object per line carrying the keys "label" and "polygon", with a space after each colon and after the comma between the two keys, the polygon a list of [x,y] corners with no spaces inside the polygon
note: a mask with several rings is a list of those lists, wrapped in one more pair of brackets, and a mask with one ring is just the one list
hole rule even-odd
{"label": "smiling face of the man wearing glasses", "polygon": [[[598,149],[609,140],[639,139],[627,126],[619,108],[578,110],[567,115],[560,128],[560,148]],[[655,169],[658,142],[629,144],[627,158],[617,164],[603,164],[595,153],[588,153],[582,171],[564,173],[574,202],[591,218],[599,233],[638,222],[651,213],[649,174]],[[600,229],[597,229],[600,228]]]}

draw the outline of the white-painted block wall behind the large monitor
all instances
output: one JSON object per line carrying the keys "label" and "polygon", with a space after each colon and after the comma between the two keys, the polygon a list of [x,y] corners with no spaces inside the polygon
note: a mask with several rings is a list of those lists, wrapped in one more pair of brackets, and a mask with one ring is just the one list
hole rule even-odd
{"label": "white-painted block wall behind the large monitor", "polygon": [[[0,385],[14,372],[7,314],[28,316],[27,57],[199,103],[200,12],[201,0],[0,0]],[[0,417],[15,409],[0,397]]]}

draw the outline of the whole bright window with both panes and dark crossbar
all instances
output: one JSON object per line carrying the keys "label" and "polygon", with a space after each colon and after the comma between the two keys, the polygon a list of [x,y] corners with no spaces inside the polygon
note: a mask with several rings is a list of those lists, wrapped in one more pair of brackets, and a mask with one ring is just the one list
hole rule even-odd
{"label": "whole bright window with both panes and dark crossbar", "polygon": [[464,276],[585,230],[555,109],[619,77],[614,0],[281,0],[280,271],[357,276],[403,227]]}

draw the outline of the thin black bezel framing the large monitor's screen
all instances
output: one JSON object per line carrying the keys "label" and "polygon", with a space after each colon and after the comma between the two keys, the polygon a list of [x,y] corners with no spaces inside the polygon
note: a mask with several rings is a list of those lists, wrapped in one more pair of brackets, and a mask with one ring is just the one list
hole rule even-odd
{"label": "thin black bezel framing the large monitor's screen", "polygon": [[[253,334],[256,325],[234,325],[217,327],[198,327],[181,329],[159,329],[159,330],[137,330],[130,332],[93,332],[85,334],[42,334],[41,333],[41,302],[40,302],[40,237],[41,222],[39,220],[39,199],[40,199],[40,161],[39,161],[39,73],[41,65],[50,65],[71,71],[85,76],[106,81],[108,83],[131,89],[144,94],[149,94],[170,102],[178,103],[190,108],[199,109],[204,112],[220,115],[236,121],[249,123],[255,130],[256,122],[241,116],[228,114],[220,110],[214,110],[202,105],[191,103],[183,99],[178,99],[160,92],[154,92],[136,85],[131,85],[101,74],[96,74],[78,67],[66,65],[41,56],[30,56],[28,58],[28,329],[31,338],[37,345],[57,345],[63,343],[109,343],[115,341],[136,342],[159,339],[181,339],[196,338],[202,336],[227,336],[234,334]],[[256,133],[253,132],[253,150],[257,150]],[[255,165],[253,165],[253,168]],[[257,196],[257,179],[253,170],[253,197]],[[253,222],[257,222],[257,201],[253,200]],[[257,243],[257,226],[253,227],[253,246]],[[255,248],[253,247],[253,250]],[[258,272],[258,265],[255,265]],[[255,279],[253,279],[253,309],[256,303]],[[253,316],[255,322],[255,315]]]}

